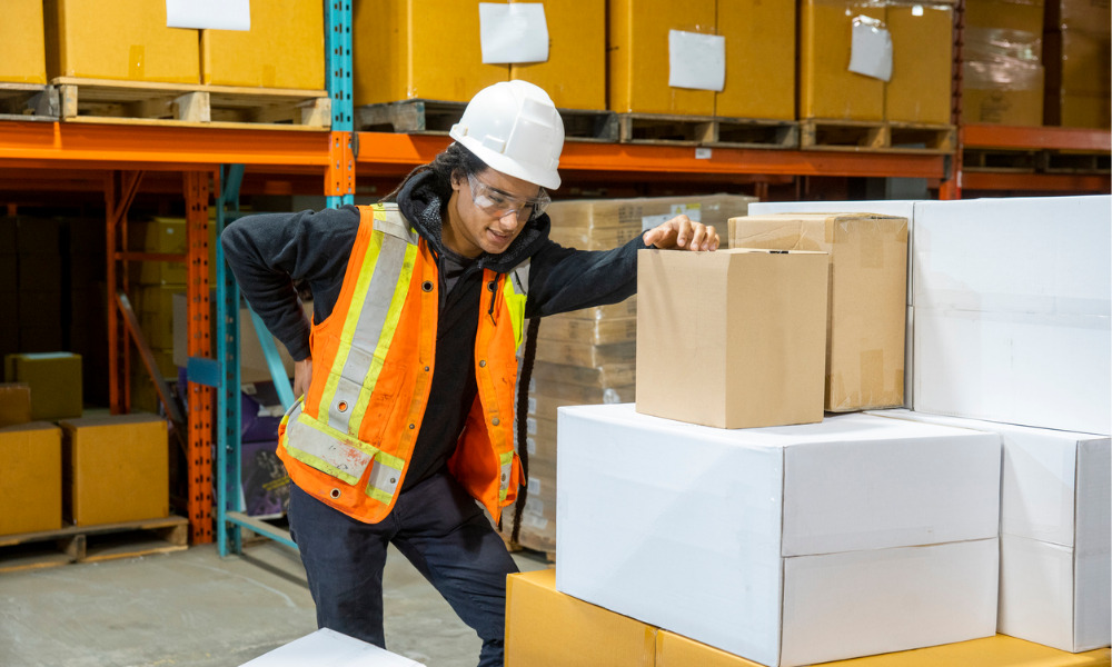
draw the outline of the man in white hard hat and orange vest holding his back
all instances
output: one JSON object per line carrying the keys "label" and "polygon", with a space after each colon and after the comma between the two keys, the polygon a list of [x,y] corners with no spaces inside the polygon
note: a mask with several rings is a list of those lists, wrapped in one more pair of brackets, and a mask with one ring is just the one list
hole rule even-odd
{"label": "man in white hard hat and orange vest holding his back", "polygon": [[[383,203],[258,215],[221,242],[247,300],[297,360],[302,397],[279,431],[290,532],[317,623],[385,646],[393,544],[502,665],[506,576],[498,521],[525,485],[514,447],[526,318],[634,293],[637,250],[714,250],[685,216],[608,251],[548,239],[564,125],[524,81],[479,91],[455,139]],[[312,292],[305,321],[294,281]],[[476,500],[478,502],[476,502]]]}

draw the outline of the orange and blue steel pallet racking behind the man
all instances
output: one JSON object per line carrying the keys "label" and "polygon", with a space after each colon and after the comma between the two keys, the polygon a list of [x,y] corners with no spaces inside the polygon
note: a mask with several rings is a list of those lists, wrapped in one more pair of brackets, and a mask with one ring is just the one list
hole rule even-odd
{"label": "orange and blue steel pallet racking behind the man", "polygon": [[[955,14],[959,21],[955,52],[960,53],[961,12]],[[239,472],[239,381],[234,375],[238,374],[239,293],[222,266],[222,255],[216,249],[218,335],[216,341],[209,340],[210,199],[217,206],[218,230],[237,215],[241,183],[251,182],[252,191],[261,193],[324,191],[328,206],[350,203],[357,175],[368,179],[399,178],[431,160],[449,142],[441,135],[354,131],[350,0],[327,0],[325,24],[334,115],[328,131],[0,121],[0,191],[18,191],[28,197],[34,192],[102,192],[108,210],[109,271],[113,276],[117,270],[126,272],[130,260],[188,262],[190,536],[193,544],[215,539],[221,554],[239,550],[239,529],[244,527],[284,544],[292,542],[288,541],[288,534],[242,515],[226,495],[227,479],[238,479]],[[960,56],[955,56],[954,99],[960,119],[959,62]],[[753,185],[758,197],[767,196],[770,183],[783,183],[794,177],[923,178],[939,189],[941,198],[951,199],[960,198],[963,189],[1109,191],[1109,178],[1104,175],[974,173],[964,171],[961,165],[963,146],[1106,151],[1112,145],[1108,130],[959,127],[959,148],[949,155],[706,149],[569,140],[560,159],[560,171],[568,183],[744,182]],[[145,183],[183,197],[189,240],[185,257],[136,253],[112,242],[126,239],[128,207]],[[115,303],[116,289],[113,283],[109,285],[109,303]],[[123,330],[117,309],[110,308],[109,355],[116,369],[110,400],[112,410],[120,412],[129,407],[128,355],[121,354],[127,349]]]}

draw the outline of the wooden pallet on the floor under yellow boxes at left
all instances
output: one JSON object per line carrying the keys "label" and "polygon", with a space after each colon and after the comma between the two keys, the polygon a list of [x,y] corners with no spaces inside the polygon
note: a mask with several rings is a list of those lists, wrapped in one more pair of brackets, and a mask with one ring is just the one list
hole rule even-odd
{"label": "wooden pallet on the floor under yellow boxes at left", "polygon": [[0,536],[0,573],[169,554],[188,548],[185,517]]}

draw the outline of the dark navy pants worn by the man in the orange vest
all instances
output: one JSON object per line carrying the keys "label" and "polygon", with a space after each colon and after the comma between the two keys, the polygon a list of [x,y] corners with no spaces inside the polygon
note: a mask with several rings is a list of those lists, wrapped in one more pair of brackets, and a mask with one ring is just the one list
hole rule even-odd
{"label": "dark navy pants worn by the man in the orange vest", "polygon": [[506,576],[517,565],[450,475],[434,475],[404,491],[378,524],[357,521],[291,485],[289,524],[318,627],[386,648],[383,567],[393,542],[483,639],[479,667],[502,666]]}

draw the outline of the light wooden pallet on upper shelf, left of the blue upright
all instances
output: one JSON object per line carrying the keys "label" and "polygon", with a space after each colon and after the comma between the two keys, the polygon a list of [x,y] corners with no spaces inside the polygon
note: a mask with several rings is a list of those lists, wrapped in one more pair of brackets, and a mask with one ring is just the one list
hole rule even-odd
{"label": "light wooden pallet on upper shelf, left of the blue upright", "polygon": [[66,122],[327,130],[324,90],[58,78]]}

